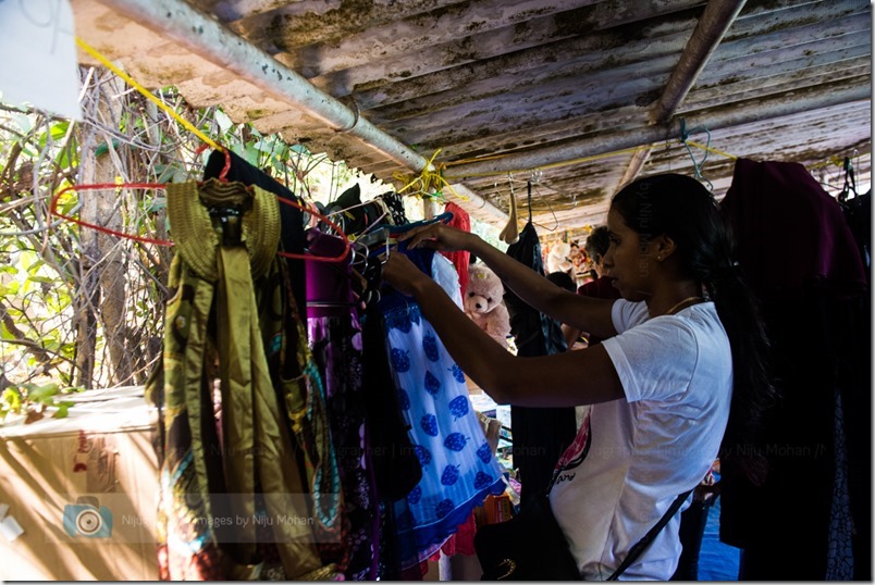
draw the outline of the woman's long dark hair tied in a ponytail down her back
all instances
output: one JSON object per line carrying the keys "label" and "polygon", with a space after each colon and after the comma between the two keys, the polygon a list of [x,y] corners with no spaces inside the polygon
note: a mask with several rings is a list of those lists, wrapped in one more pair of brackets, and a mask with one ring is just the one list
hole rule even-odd
{"label": "woman's long dark hair tied in a ponytail down her back", "polygon": [[663,234],[670,237],[686,276],[702,285],[714,301],[732,349],[732,401],[720,459],[755,485],[762,484],[766,473],[760,444],[763,419],[777,396],[768,373],[769,343],[716,200],[692,177],[663,174],[630,183],[611,207],[638,234],[642,246]]}

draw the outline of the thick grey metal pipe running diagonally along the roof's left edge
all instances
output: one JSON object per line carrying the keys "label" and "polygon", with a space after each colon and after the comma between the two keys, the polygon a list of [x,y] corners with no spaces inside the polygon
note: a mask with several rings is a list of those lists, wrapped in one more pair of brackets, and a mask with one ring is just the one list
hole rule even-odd
{"label": "thick grey metal pipe running diagonally along the roof's left edge", "polygon": [[246,39],[182,0],[99,0],[118,13],[184,46],[193,53],[234,72],[278,96],[337,132],[352,134],[414,172],[429,161],[365,120],[356,111],[322,92]]}

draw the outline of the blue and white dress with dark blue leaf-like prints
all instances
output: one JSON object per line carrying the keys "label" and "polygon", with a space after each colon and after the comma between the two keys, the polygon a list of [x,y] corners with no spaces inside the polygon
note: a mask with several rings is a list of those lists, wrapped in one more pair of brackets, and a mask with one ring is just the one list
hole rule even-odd
{"label": "blue and white dress with dark blue leaf-like prints", "polygon": [[[458,276],[433,250],[405,250],[461,306]],[[490,494],[501,494],[502,469],[471,407],[465,375],[419,306],[399,292],[380,301],[402,409],[422,464],[422,480],[395,502],[402,565],[427,560]]]}

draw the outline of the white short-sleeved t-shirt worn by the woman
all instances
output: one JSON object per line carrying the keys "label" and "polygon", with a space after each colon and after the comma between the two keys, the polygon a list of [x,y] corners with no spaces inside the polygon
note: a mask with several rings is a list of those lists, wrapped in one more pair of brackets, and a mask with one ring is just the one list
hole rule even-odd
{"label": "white short-sleeved t-shirt worn by the woman", "polygon": [[[613,320],[619,333],[602,345],[626,399],[592,407],[589,449],[581,440],[569,447],[550,494],[591,581],[607,578],[675,498],[702,481],[717,457],[732,393],[729,339],[713,302],[650,319],[643,302],[620,299]],[[680,512],[621,578],[670,578],[679,525]]]}

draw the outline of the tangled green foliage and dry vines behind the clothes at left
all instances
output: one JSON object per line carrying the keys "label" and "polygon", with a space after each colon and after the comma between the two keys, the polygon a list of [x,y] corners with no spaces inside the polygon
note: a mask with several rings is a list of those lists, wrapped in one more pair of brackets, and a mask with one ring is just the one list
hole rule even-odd
{"label": "tangled green foliage and dry vines behind the clothes at left", "polygon": [[[89,103],[86,115],[100,111],[106,84],[113,82],[104,70],[93,73],[82,70],[82,78],[89,79],[83,90]],[[304,145],[235,124],[221,108],[192,109],[172,87],[161,89],[159,97],[210,139],[305,199],[326,203],[356,182],[365,200],[387,190]],[[112,177],[110,182],[197,181],[209,152],[200,152],[198,136],[135,91],[119,94],[103,110],[78,123],[0,108],[0,418],[24,412],[23,404],[36,411],[48,408],[40,397],[49,390],[40,388],[79,385],[81,376],[86,387],[141,384],[159,358],[173,249],[98,236],[51,216],[49,201],[69,185],[90,181],[101,165],[100,176]],[[108,120],[107,111],[118,119]],[[112,155],[106,155],[110,148]],[[101,197],[109,204],[97,215],[94,203]],[[83,221],[121,225],[128,234],[171,237],[160,189],[66,192],[58,209]],[[123,314],[112,327],[102,312],[110,295],[101,281],[110,262],[118,266],[113,278],[124,283]],[[122,358],[132,362],[124,375],[119,372],[125,364],[109,349],[119,344]],[[66,409],[60,399],[51,407],[61,415]]]}

